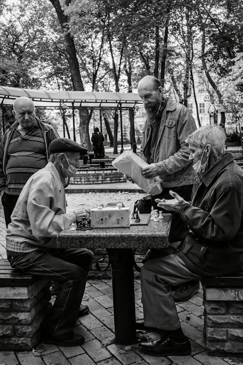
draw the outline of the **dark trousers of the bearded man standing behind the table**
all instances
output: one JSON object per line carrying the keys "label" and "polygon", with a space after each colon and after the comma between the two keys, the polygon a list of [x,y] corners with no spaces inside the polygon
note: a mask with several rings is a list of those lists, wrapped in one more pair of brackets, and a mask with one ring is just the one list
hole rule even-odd
{"label": "dark trousers of the bearded man standing behind the table", "polygon": [[159,195],[155,195],[152,197],[152,199],[143,200],[141,199],[138,202],[138,210],[142,213],[150,213],[151,207],[153,205],[154,209],[158,209],[159,211],[162,210],[163,213],[171,213],[172,214],[172,221],[171,221],[171,229],[169,233],[169,241],[172,242],[178,242],[178,241],[184,241],[186,236],[189,233],[188,225],[180,218],[179,213],[175,212],[169,212],[168,210],[159,208],[157,206],[157,203],[155,199],[174,199],[170,194],[169,190],[173,190],[175,193],[180,195],[185,201],[191,201],[191,193],[192,193],[192,187],[193,185],[184,185],[184,186],[178,186],[173,188],[164,188],[162,193]]}

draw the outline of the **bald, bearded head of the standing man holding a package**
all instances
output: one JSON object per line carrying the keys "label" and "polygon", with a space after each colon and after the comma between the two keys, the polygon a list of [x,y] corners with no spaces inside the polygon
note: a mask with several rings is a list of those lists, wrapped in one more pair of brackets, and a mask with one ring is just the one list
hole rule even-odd
{"label": "bald, bearded head of the standing man holding a package", "polygon": [[144,76],[138,85],[138,93],[143,101],[148,115],[153,116],[159,108],[162,99],[162,87],[154,76]]}

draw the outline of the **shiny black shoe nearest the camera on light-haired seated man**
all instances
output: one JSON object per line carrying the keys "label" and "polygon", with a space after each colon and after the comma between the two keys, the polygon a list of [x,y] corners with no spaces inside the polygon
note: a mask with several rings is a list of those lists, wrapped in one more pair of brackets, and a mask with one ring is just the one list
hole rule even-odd
{"label": "shiny black shoe nearest the camera on light-haired seated man", "polygon": [[168,336],[161,337],[158,340],[141,342],[139,348],[152,356],[185,356],[191,354],[191,344],[186,337],[182,343],[177,343]]}

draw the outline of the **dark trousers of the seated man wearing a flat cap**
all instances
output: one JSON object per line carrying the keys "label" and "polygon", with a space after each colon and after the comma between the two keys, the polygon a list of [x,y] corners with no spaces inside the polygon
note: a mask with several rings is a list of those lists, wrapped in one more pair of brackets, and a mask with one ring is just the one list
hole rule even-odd
{"label": "dark trousers of the seated man wearing a flat cap", "polygon": [[56,300],[46,313],[48,334],[59,339],[73,336],[92,259],[93,253],[87,249],[53,249],[51,253],[35,250],[21,256],[8,253],[13,268],[60,284]]}

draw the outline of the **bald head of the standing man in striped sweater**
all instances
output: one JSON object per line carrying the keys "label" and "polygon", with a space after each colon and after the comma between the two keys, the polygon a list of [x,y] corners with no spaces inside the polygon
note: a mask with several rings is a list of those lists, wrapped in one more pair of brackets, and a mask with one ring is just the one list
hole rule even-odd
{"label": "bald head of the standing man in striped sweater", "polygon": [[27,96],[20,96],[14,101],[14,115],[19,129],[26,131],[35,125],[35,105]]}

